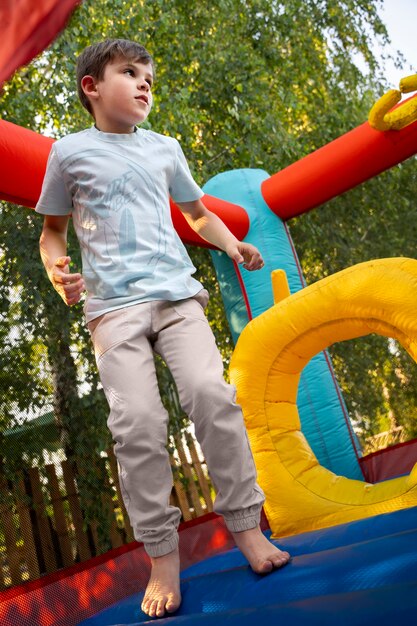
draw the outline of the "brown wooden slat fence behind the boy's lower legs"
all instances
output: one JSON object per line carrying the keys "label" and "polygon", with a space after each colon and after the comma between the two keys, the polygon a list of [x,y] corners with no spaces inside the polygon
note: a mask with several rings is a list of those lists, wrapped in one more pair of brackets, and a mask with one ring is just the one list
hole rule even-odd
{"label": "brown wooden slat fence behind the boy's lower legs", "polygon": [[[206,466],[190,433],[175,437],[171,455],[172,504],[183,521],[213,510]],[[121,497],[116,458],[104,455],[109,490],[103,490],[113,548],[133,541]],[[0,589],[36,580],[99,554],[97,528],[83,519],[74,465],[68,460],[22,469],[15,483],[0,476]]]}

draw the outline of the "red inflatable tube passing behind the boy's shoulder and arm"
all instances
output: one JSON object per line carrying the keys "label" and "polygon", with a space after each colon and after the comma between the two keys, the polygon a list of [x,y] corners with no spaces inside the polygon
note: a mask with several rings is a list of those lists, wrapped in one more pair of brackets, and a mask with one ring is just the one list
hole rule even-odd
{"label": "red inflatable tube passing behind the boy's shoulder and arm", "polygon": [[[39,198],[53,139],[0,120],[0,198],[34,207]],[[249,230],[249,217],[241,206],[205,195],[204,204],[216,213],[238,238]],[[184,243],[213,248],[187,224],[171,201],[174,226]]]}

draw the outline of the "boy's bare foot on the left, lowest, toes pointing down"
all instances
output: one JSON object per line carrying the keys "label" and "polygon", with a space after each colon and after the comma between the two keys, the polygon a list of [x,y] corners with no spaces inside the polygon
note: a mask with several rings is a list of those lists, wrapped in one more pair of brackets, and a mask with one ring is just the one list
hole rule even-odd
{"label": "boy's bare foot on the left, lowest, toes pointing down", "polygon": [[142,611],[151,617],[174,613],[181,604],[180,557],[178,549],[151,557],[151,577],[142,601]]}

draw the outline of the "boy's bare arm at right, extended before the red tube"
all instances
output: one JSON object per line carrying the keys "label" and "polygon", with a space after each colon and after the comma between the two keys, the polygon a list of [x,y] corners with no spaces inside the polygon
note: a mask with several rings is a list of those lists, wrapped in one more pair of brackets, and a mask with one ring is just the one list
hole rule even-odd
{"label": "boy's bare arm at right, extended before the red tube", "polygon": [[250,243],[239,241],[226,224],[215,213],[209,211],[201,200],[177,204],[191,228],[200,237],[226,252],[233,261],[243,263],[243,267],[250,271],[259,270],[264,266],[259,250]]}

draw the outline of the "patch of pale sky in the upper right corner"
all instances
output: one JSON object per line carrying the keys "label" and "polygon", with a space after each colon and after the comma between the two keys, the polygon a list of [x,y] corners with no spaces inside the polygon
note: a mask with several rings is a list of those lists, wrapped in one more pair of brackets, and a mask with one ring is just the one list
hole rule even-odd
{"label": "patch of pale sky in the upper right corner", "polygon": [[417,0],[384,0],[380,15],[393,49],[400,50],[406,59],[403,70],[391,63],[385,67],[389,88],[398,89],[401,78],[417,73]]}

